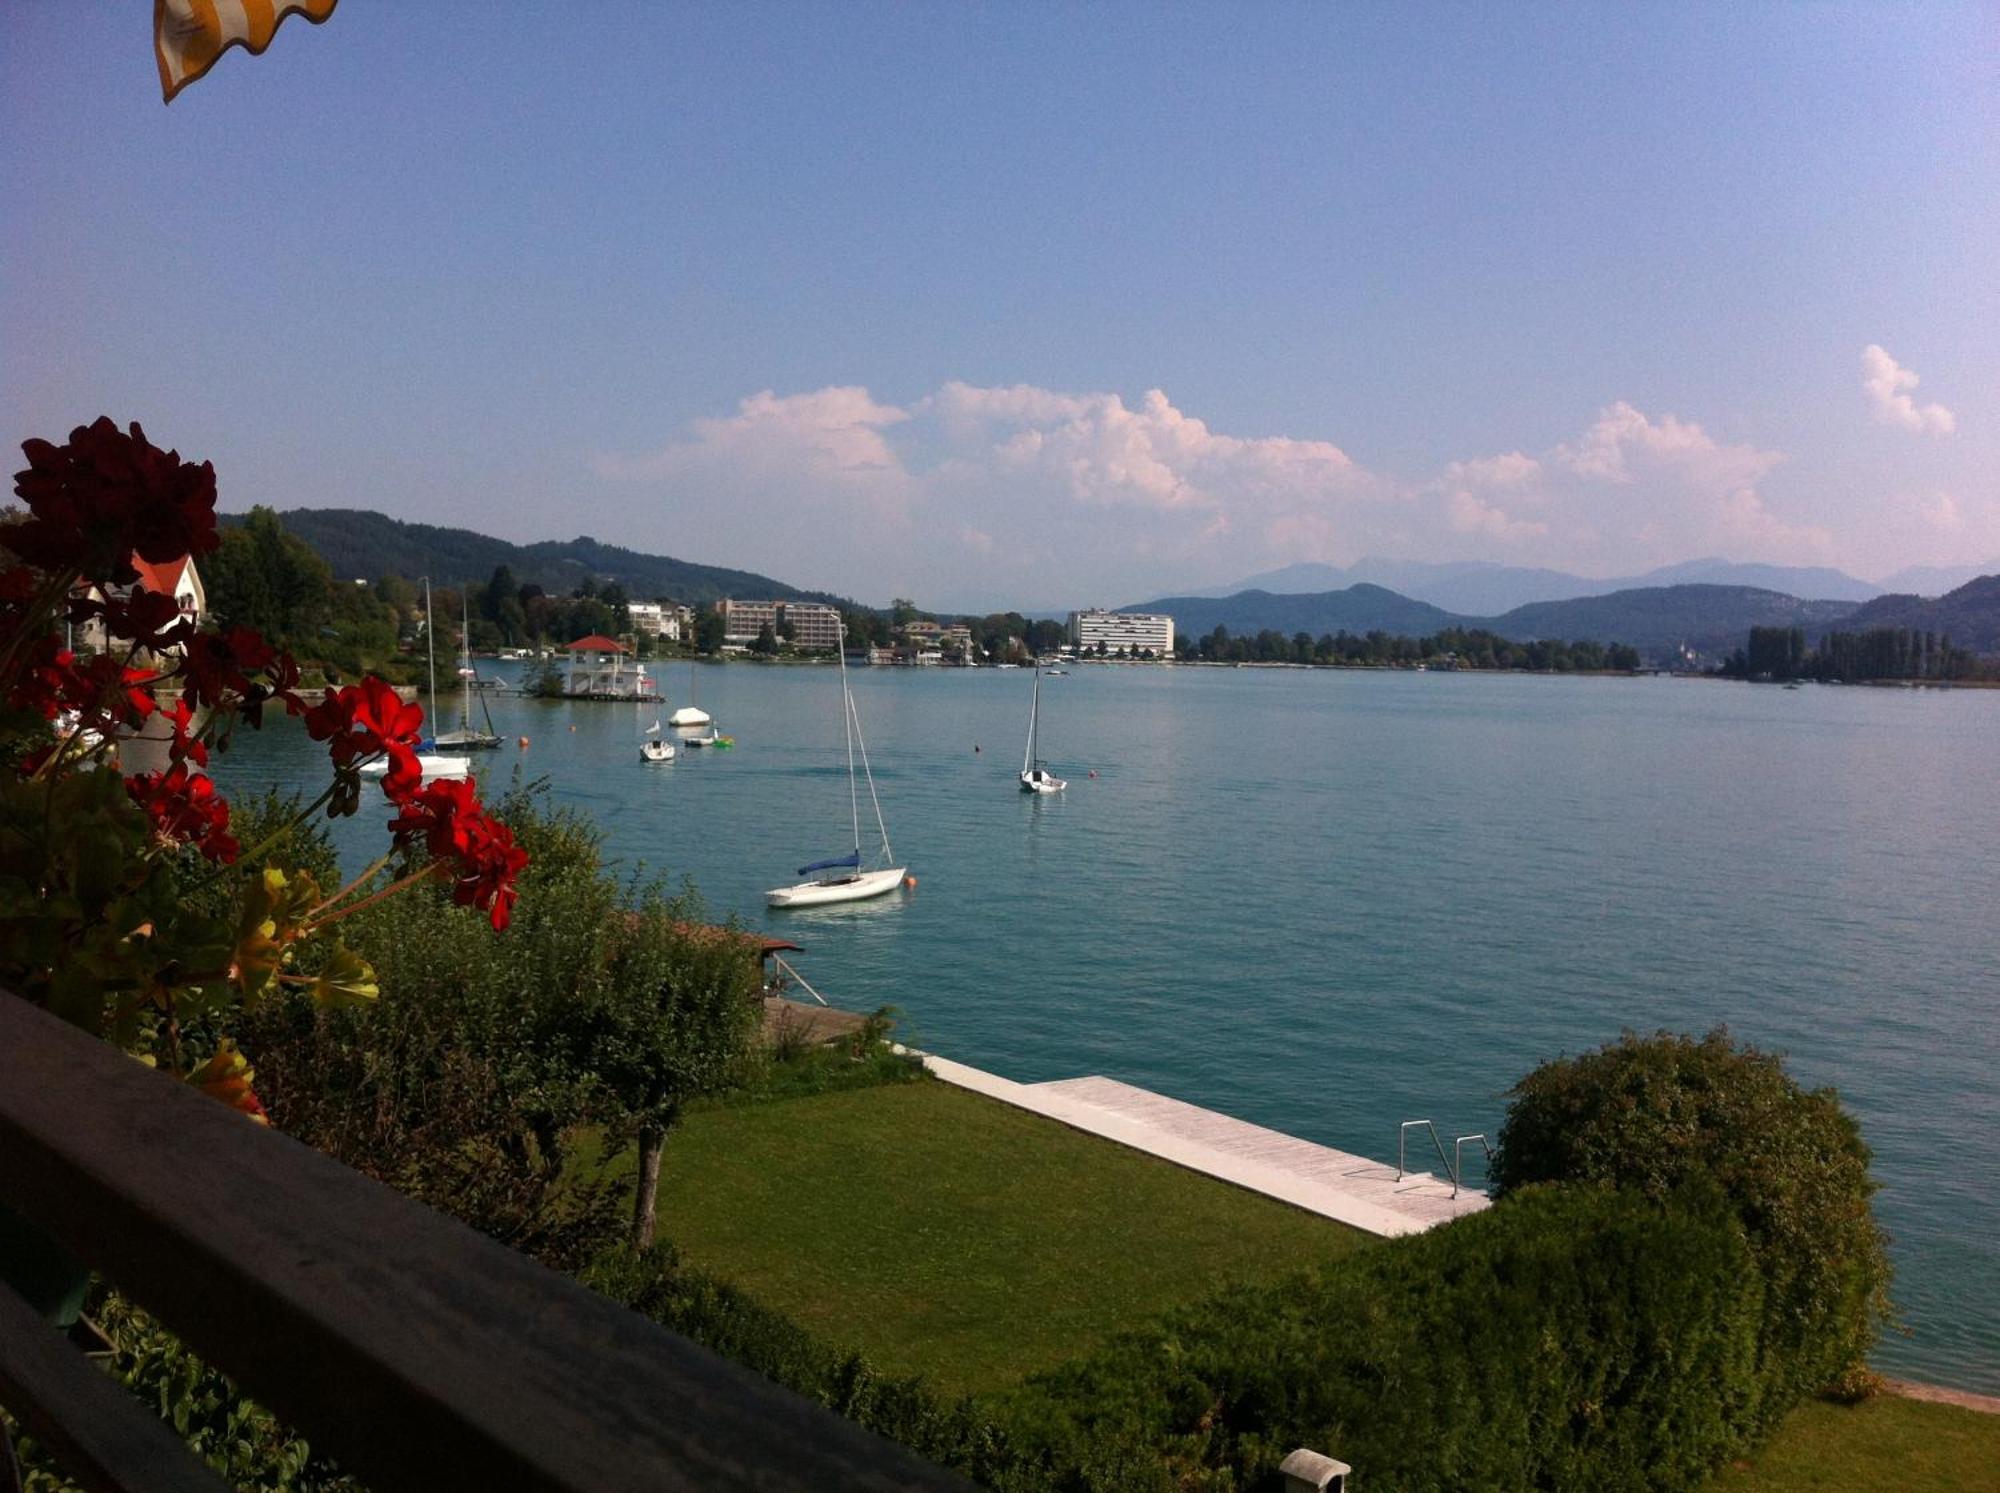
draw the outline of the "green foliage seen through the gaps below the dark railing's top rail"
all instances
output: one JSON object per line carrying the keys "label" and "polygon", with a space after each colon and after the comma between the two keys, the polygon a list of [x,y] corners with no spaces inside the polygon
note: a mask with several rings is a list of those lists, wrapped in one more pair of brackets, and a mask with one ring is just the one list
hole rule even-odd
{"label": "green foliage seen through the gaps below the dark railing's top rail", "polygon": [[[118,1293],[102,1295],[92,1319],[112,1343],[108,1373],[154,1409],[176,1435],[234,1487],[286,1493],[360,1493],[360,1485],[292,1435],[256,1401],[190,1353],[178,1337]],[[6,1419],[0,1413],[0,1419]],[[72,1493],[76,1483],[32,1439],[16,1431],[22,1493]]]}

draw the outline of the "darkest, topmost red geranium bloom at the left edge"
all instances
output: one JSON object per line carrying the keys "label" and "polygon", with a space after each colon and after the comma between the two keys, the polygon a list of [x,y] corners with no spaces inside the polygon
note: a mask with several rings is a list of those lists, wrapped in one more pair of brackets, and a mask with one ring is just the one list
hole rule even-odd
{"label": "darkest, topmost red geranium bloom at the left edge", "polygon": [[8,532],[8,548],[50,572],[130,584],[132,554],[166,562],[216,546],[216,468],[160,450],[132,422],[130,432],[100,416],[70,432],[64,446],[22,442],[28,470],[14,492],[28,520]]}

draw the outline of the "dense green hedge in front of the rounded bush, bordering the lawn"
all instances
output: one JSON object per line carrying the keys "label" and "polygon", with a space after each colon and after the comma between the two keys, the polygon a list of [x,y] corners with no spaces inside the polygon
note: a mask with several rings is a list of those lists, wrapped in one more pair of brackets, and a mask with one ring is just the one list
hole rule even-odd
{"label": "dense green hedge in front of the rounded bush, bordering the lawn", "polygon": [[1688,1489],[1756,1429],[1762,1283],[1714,1195],[1530,1189],[1242,1287],[998,1407],[1066,1489],[1252,1489],[1292,1447],[1398,1489]]}

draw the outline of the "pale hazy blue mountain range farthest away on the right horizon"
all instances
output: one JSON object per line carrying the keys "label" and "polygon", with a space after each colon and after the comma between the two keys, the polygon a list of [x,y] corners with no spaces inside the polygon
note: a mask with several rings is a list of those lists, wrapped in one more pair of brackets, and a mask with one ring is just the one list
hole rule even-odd
{"label": "pale hazy blue mountain range farthest away on the right horizon", "polygon": [[2000,570],[2000,560],[1984,566],[1910,566],[1880,582],[1868,582],[1846,570],[1826,566],[1738,564],[1734,560],[1704,558],[1664,564],[1644,574],[1594,578],[1570,574],[1568,570],[1494,564],[1490,560],[1450,560],[1436,564],[1426,560],[1388,560],[1370,554],[1348,566],[1288,564],[1280,570],[1246,576],[1230,586],[1208,586],[1186,594],[1214,598],[1234,596],[1244,590],[1306,594],[1340,590],[1364,582],[1388,586],[1404,596],[1442,606],[1448,612],[1496,616],[1538,600],[1574,600],[1578,596],[1608,596],[1614,590],[1680,584],[1754,586],[1786,596],[1850,602],[1874,600],[1892,592],[1940,596],[1994,570]]}

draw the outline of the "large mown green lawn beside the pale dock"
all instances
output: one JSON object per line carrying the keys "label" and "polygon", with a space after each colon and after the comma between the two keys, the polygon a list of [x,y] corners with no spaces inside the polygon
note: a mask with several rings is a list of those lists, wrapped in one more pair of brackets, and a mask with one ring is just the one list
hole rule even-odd
{"label": "large mown green lawn beside the pale dock", "polygon": [[890,1373],[1000,1389],[1366,1235],[924,1081],[688,1115],[660,1233]]}

